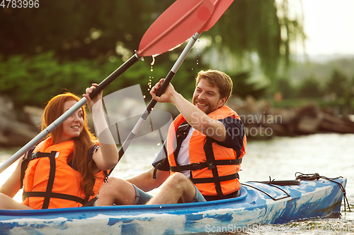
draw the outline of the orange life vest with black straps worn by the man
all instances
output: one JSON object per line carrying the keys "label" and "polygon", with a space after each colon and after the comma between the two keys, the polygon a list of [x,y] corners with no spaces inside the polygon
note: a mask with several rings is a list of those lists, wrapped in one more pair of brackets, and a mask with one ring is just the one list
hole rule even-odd
{"label": "orange life vest with black straps worn by the man", "polygon": [[[229,116],[240,119],[239,115],[227,106],[211,112],[208,116],[215,120],[225,119]],[[202,195],[222,196],[239,191],[240,183],[237,172],[241,168],[242,157],[246,153],[246,135],[243,133],[241,150],[235,151],[217,144],[213,138],[195,130],[189,140],[190,164],[178,166],[176,145],[181,145],[181,143],[176,144],[176,132],[184,121],[185,119],[180,114],[169,128],[167,152],[171,174],[175,171],[190,170],[190,179]],[[240,134],[242,135],[242,133]]]}

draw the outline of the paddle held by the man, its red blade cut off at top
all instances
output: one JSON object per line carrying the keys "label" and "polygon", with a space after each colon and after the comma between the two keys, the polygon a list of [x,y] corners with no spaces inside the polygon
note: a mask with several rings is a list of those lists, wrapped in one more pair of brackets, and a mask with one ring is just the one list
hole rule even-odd
{"label": "paddle held by the man, its red blade cut off at top", "polygon": [[[198,40],[198,37],[200,36],[200,34],[204,31],[209,30],[210,28],[212,28],[213,25],[215,25],[215,23],[217,23],[217,20],[219,20],[219,18],[222,16],[224,11],[226,11],[227,8],[229,8],[229,6],[232,4],[232,1],[234,1],[234,0],[213,0],[212,1],[212,4],[214,6],[214,11],[212,12],[212,16],[210,16],[209,20],[205,23],[205,25],[202,25],[202,27],[196,31],[195,35],[193,35],[193,37],[190,38],[190,41],[185,46],[185,49],[183,49],[183,52],[178,57],[176,63],[171,68],[171,71],[169,71],[168,75],[166,76],[164,83],[162,83],[162,85],[161,85],[161,88],[159,88],[159,91],[156,93],[157,96],[161,96],[164,93],[167,86],[171,82],[173,76],[178,71],[178,68],[181,66],[185,57],[190,52],[190,49],[192,49],[193,45]],[[144,124],[144,121],[146,121],[147,117],[149,116],[150,112],[152,112],[152,109],[154,109],[155,105],[156,105],[156,100],[152,99],[149,102],[147,109],[145,109],[142,116],[140,116],[139,121],[137,121],[134,128],[132,129],[130,134],[125,139],[125,142],[122,144],[122,147],[120,147],[120,150],[119,150],[119,157],[120,158],[122,157],[122,155],[124,155],[124,152],[125,152],[125,150],[127,150],[127,147],[129,147],[130,143],[132,143],[132,140],[137,135],[139,129],[142,127],[142,125]],[[161,133],[160,133],[160,136],[161,136]],[[112,171],[113,171],[113,169],[110,172],[112,172]]]}

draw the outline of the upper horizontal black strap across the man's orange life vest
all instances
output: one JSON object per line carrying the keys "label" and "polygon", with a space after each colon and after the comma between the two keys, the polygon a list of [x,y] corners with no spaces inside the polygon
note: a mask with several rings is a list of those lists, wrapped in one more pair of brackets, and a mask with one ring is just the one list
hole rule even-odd
{"label": "upper horizontal black strap across the man's orange life vest", "polygon": [[176,166],[172,167],[170,166],[171,171],[195,171],[198,169],[214,169],[215,166],[221,166],[221,165],[238,165],[241,164],[242,158],[239,159],[229,159],[229,160],[215,160],[212,162],[199,162],[199,163],[192,163],[192,164],[187,164],[183,166]]}

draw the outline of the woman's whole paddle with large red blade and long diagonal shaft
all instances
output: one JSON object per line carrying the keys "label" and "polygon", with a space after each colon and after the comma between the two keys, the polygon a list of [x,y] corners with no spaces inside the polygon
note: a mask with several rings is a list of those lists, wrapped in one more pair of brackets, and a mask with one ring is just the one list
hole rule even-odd
{"label": "woman's whole paddle with large red blade and long diagonal shaft", "polygon": [[[127,68],[135,64],[142,56],[152,56],[169,51],[182,44],[193,35],[210,18],[214,6],[210,0],[177,0],[164,13],[155,20],[150,28],[145,32],[139,44],[139,50],[130,57],[122,66],[103,80],[98,87],[93,90],[90,97],[95,97],[107,85],[113,82],[118,76],[124,73]],[[86,104],[86,98],[82,98],[72,108],[67,110],[57,120],[47,126],[45,130],[35,136],[30,142],[18,150],[4,164],[0,166],[0,173],[9,167],[13,162],[25,154],[31,147],[35,146],[42,138],[45,138],[57,126],[63,123],[74,112]]]}

